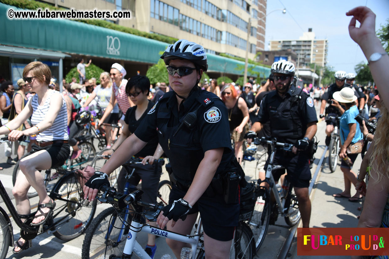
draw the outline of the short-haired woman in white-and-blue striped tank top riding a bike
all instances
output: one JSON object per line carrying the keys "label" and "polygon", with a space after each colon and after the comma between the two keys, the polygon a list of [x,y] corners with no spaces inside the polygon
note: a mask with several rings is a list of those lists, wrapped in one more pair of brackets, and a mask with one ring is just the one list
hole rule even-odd
{"label": "short-haired woman in white-and-blue striped tank top riding a bike", "polygon": [[[9,133],[8,139],[11,141],[16,141],[23,135],[37,135],[32,150],[19,162],[21,171],[12,189],[16,208],[22,215],[30,213],[28,189],[32,186],[37,190],[39,206],[32,221],[34,226],[46,222],[55,207],[55,202],[47,195],[43,177],[38,170],[61,166],[70,154],[67,144],[69,137],[66,103],[58,91],[49,89],[50,79],[50,68],[46,64],[35,61],[26,65],[23,80],[36,94],[28,100],[18,117],[0,127],[0,134]],[[23,131],[16,130],[30,116],[33,126]],[[19,238],[13,252],[17,254],[27,248],[28,242]]]}

